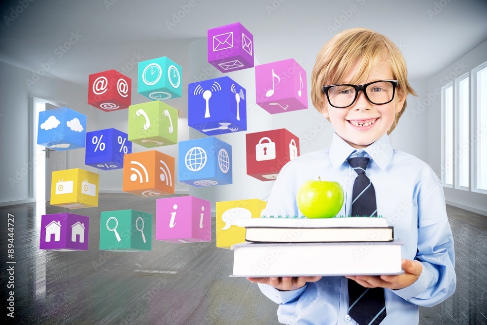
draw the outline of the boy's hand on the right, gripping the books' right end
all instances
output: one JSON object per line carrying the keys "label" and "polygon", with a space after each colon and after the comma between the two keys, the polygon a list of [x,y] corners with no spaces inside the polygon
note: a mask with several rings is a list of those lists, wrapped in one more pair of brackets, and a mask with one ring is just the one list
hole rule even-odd
{"label": "boy's hand on the right, gripping the books' right end", "polygon": [[346,276],[352,279],[362,287],[366,288],[389,288],[402,289],[408,287],[416,281],[423,270],[423,265],[418,261],[402,259],[402,269],[404,274],[399,275],[381,275],[381,276]]}

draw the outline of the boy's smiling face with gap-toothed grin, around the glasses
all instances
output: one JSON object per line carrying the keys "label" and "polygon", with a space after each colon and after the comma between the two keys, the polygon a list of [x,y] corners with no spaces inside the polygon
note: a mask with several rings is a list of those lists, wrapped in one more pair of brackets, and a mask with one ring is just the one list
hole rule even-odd
{"label": "boy's smiling face with gap-toothed grin, around the glasses", "polygon": [[[351,80],[356,68],[357,66],[340,83],[353,83]],[[359,80],[357,84],[390,79],[394,79],[391,67],[387,60],[380,59],[373,65],[368,78]],[[352,106],[346,108],[333,107],[326,100],[326,107],[322,110],[322,114],[332,123],[338,136],[352,147],[360,149],[369,146],[387,133],[405,100],[406,96],[399,88],[396,88],[394,99],[383,105],[372,104],[365,98],[363,92],[359,92]]]}

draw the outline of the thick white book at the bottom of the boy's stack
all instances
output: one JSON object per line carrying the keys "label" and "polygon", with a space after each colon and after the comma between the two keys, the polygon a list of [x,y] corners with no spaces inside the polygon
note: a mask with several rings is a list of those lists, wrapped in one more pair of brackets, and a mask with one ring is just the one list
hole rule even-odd
{"label": "thick white book at the bottom of the boy's stack", "polygon": [[241,243],[234,277],[401,274],[401,241],[360,243]]}

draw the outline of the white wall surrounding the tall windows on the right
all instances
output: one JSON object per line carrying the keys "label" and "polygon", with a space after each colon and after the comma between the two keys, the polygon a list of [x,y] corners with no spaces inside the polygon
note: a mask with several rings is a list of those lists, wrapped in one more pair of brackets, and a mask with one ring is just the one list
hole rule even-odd
{"label": "white wall surrounding the tall windows on the right", "polygon": [[[487,61],[487,41],[453,62],[449,67],[428,81],[431,103],[423,109],[428,115],[428,163],[441,178],[441,87]],[[439,94],[439,95],[438,95]],[[427,102],[427,101],[425,101]],[[471,130],[470,134],[475,134]],[[471,145],[471,143],[470,143]],[[487,195],[470,191],[444,188],[448,204],[487,215]]]}

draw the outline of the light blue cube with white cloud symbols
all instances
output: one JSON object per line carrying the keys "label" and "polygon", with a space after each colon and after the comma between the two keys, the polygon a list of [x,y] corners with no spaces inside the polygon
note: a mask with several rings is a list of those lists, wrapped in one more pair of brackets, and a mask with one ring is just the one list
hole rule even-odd
{"label": "light blue cube with white cloud symbols", "polygon": [[83,148],[86,115],[67,107],[39,112],[37,144],[57,151]]}

